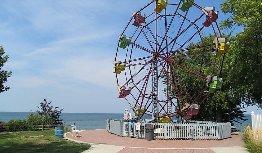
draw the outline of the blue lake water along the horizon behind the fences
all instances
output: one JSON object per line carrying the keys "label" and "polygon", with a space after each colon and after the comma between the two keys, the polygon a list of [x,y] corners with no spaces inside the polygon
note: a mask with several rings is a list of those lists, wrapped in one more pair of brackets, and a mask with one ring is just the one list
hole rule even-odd
{"label": "blue lake water along the horizon behind the fences", "polygon": [[[0,121],[8,122],[11,119],[26,119],[30,112],[0,112]],[[144,119],[151,117],[145,115]],[[251,115],[246,115],[247,121],[241,121],[242,126],[251,125]],[[107,119],[123,119],[123,114],[101,114],[101,113],[62,113],[61,119],[67,125],[75,123],[80,130],[104,129],[106,128]],[[235,125],[241,125],[235,123]]]}

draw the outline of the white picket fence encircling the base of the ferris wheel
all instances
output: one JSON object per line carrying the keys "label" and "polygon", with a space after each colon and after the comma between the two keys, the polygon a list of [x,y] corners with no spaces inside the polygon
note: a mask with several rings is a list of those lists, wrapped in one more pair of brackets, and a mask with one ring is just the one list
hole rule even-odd
{"label": "white picket fence encircling the base of the ferris wheel", "polygon": [[[125,137],[145,137],[145,124],[140,123],[140,131],[136,123],[124,120],[107,120],[106,129],[110,133]],[[221,140],[231,137],[230,123],[152,123],[154,137],[157,139],[189,139],[189,140]]]}

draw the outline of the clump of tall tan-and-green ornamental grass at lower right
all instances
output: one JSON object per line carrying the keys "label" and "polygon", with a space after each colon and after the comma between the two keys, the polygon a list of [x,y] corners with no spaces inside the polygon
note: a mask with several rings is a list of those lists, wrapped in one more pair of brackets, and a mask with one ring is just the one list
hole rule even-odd
{"label": "clump of tall tan-and-green ornamental grass at lower right", "polygon": [[253,128],[248,125],[245,128],[243,140],[250,153],[262,152],[262,128],[253,130]]}

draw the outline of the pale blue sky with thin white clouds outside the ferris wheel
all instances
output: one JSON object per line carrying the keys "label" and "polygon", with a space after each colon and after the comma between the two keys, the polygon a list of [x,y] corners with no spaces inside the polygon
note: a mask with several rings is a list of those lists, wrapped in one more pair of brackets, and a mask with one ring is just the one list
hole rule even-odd
{"label": "pale blue sky with thin white clouds outside the ferris wheel", "polygon": [[[13,74],[0,111],[34,111],[44,97],[64,112],[122,113],[128,105],[116,98],[111,64],[117,37],[132,12],[149,2],[2,0],[0,45],[9,55],[4,70]],[[220,10],[221,2],[197,3]],[[226,17],[220,11],[218,21]]]}

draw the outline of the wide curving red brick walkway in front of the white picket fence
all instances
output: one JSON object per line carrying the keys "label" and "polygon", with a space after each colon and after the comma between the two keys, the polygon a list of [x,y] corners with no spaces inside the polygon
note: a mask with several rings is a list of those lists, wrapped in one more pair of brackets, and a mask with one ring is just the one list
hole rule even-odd
{"label": "wide curving red brick walkway in front of the white picket fence", "polygon": [[[72,137],[72,133],[68,133],[67,137],[95,144],[105,144],[126,147],[144,147],[144,148],[211,148],[211,147],[227,147],[227,146],[244,146],[241,134],[232,135],[231,138],[224,140],[152,140],[137,139],[131,137],[120,137],[103,130],[82,131],[83,137]],[[129,148],[127,148],[129,149]],[[173,150],[174,151],[174,150]],[[180,151],[180,150],[175,150]],[[203,150],[206,151],[206,150]],[[207,150],[209,151],[209,150]],[[161,150],[162,152],[162,150]]]}

